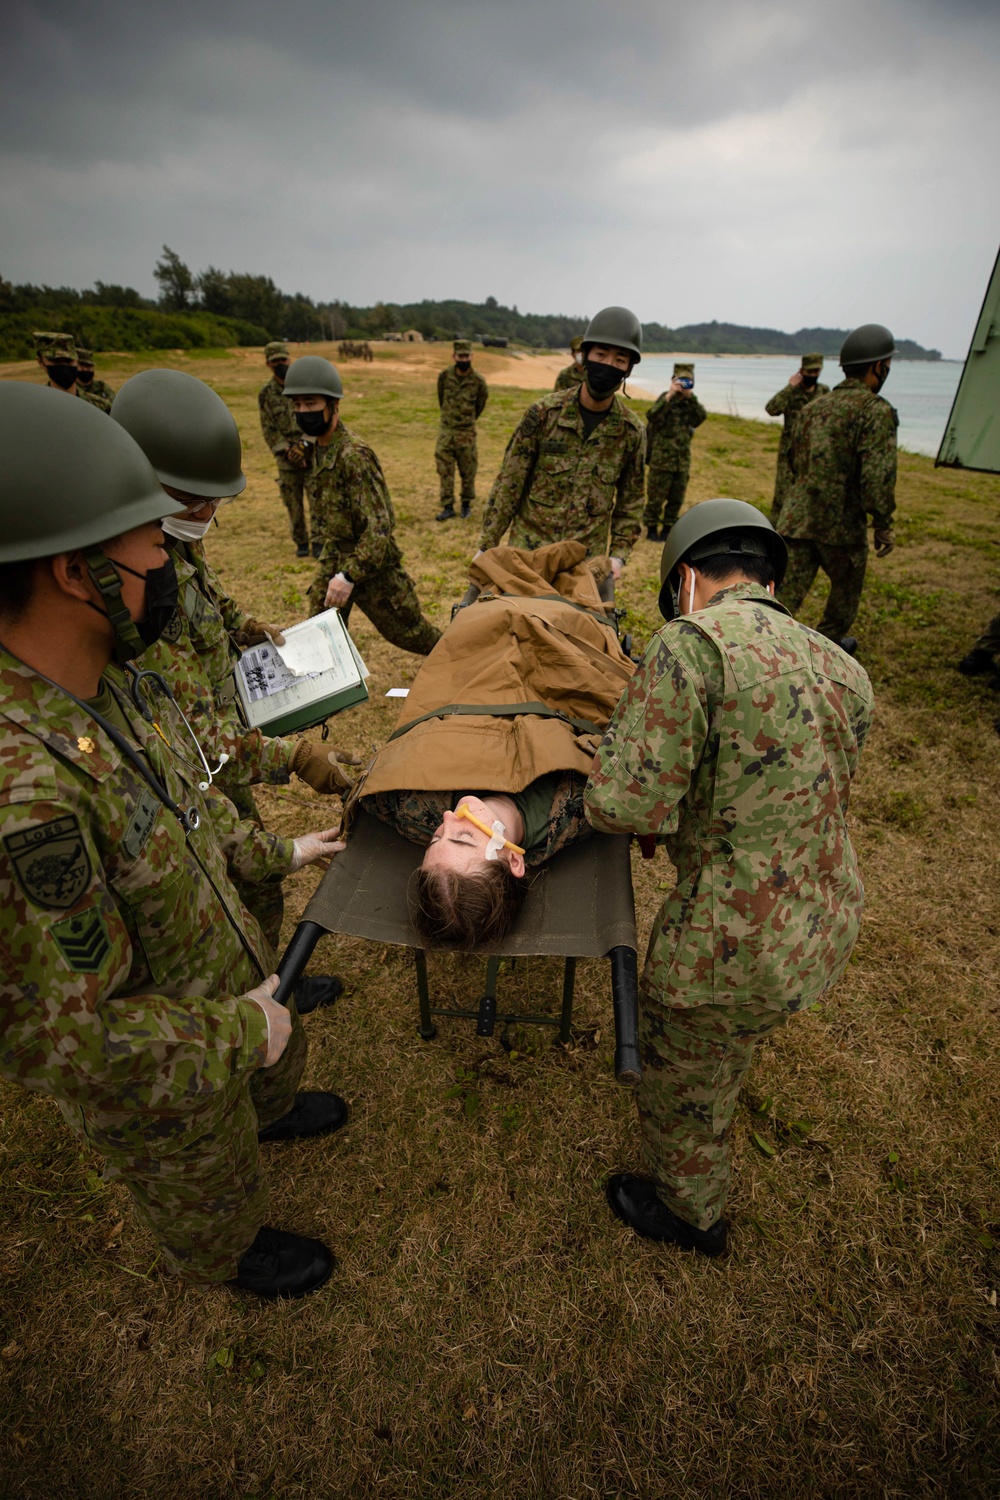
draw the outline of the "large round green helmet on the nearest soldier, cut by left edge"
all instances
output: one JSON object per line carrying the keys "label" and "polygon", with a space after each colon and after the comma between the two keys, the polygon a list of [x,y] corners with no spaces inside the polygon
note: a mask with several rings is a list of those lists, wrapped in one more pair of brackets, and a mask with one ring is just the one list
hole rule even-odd
{"label": "large round green helmet on the nearest soldier, cut by left edge", "polygon": [[49,386],[0,381],[0,562],[94,548],[184,510],[127,432]]}

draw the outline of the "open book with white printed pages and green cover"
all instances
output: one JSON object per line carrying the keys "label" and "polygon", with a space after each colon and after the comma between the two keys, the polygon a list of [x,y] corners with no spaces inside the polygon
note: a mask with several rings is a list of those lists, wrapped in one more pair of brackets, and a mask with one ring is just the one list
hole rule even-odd
{"label": "open book with white printed pages and green cover", "polygon": [[249,728],[286,735],[363,704],[369,675],[340,612],[327,609],[291,626],[282,646],[250,646],[232,680]]}

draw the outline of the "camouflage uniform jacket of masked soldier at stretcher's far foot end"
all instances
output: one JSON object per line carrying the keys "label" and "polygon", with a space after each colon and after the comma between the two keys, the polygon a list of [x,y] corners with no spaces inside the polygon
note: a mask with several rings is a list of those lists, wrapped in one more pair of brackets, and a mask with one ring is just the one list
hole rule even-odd
{"label": "camouflage uniform jacket of masked soldier at stretcher's far foot end", "polygon": [[642,518],[643,453],[643,424],[621,396],[589,438],[577,390],[543,396],[507,444],[480,549],[499,546],[510,528],[513,548],[576,540],[591,555],[627,561]]}

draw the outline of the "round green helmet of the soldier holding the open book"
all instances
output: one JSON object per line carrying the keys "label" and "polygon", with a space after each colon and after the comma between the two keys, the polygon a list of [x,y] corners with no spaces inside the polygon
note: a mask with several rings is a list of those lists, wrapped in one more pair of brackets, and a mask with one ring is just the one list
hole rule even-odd
{"label": "round green helmet of the soldier holding the open book", "polygon": [[222,396],[183,370],[142,370],[111,404],[160,484],[222,500],[246,489],[240,429]]}

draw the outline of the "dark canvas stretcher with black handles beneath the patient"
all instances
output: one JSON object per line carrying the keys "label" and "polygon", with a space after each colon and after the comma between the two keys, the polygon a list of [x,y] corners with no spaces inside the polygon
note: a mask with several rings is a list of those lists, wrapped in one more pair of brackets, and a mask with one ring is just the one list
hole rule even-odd
{"label": "dark canvas stretcher with black handles beneath the patient", "polygon": [[[513,930],[501,946],[478,950],[486,957],[486,986],[478,1010],[432,1005],[427,954],[409,920],[406,890],[423,849],[379,819],[358,812],[343,854],[324,874],[303,920],[282,957],[276,999],[285,1000],[324,933],[367,938],[411,948],[417,976],[420,1035],[436,1034],[435,1016],[475,1020],[480,1036],[492,1036],[496,1023],[558,1026],[570,1041],[577,958],[601,957],[610,964],[615,1011],[615,1076],[637,1083],[639,981],[636,962],[636,908],[628,838],[594,834],[564,849],[529,876],[531,885]],[[498,1012],[496,986],[502,957],[558,956],[565,960],[562,1005],[558,1016]]]}

